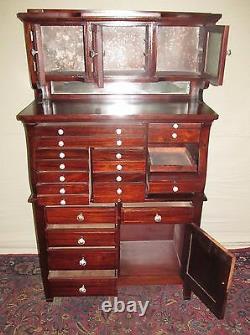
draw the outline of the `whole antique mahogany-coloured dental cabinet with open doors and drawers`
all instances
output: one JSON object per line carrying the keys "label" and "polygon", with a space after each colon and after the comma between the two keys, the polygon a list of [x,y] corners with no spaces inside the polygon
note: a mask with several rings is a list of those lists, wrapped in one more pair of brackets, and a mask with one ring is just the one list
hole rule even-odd
{"label": "whole antique mahogany-coloured dental cabinet with open doors and drawers", "polygon": [[199,228],[218,118],[203,90],[223,81],[221,15],[17,16],[35,95],[17,119],[46,300],[178,283],[222,318],[235,259]]}

